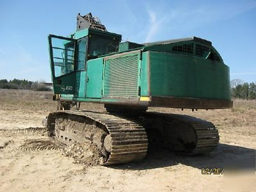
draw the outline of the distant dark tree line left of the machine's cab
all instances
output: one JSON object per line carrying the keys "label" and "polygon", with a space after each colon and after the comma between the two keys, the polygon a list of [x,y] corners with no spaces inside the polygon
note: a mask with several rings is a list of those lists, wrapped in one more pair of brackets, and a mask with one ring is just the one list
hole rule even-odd
{"label": "distant dark tree line left of the machine's cab", "polygon": [[46,86],[43,82],[28,81],[26,79],[0,79],[0,88],[15,89],[15,90],[34,90],[34,91],[51,91],[51,88]]}

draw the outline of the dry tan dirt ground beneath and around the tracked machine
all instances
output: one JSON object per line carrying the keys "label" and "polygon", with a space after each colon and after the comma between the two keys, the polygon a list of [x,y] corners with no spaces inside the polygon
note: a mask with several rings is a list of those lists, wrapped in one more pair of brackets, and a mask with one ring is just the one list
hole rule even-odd
{"label": "dry tan dirt ground beneath and around the tracked machine", "polygon": [[[0,106],[0,129],[23,129],[42,127],[56,102],[49,92],[0,89]],[[82,108],[104,110],[101,104]],[[84,166],[60,150],[19,148],[47,136],[0,132],[0,191],[255,191],[256,100],[234,100],[233,109],[150,111],[209,120],[219,129],[220,145],[204,156],[154,148],[137,163]],[[226,169],[230,166],[236,171]],[[202,175],[202,168],[223,168],[223,175]]]}

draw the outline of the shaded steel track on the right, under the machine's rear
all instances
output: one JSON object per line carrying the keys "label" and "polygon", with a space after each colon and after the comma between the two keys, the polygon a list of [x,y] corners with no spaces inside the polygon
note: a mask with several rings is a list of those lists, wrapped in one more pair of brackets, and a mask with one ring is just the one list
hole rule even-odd
{"label": "shaded steel track on the right, under the machine's rear", "polygon": [[[162,132],[162,135],[172,136],[170,134],[177,134],[179,129],[183,129],[183,132],[180,134],[179,140],[170,141],[164,140],[164,138],[160,137],[164,147],[170,148],[175,151],[182,152],[182,154],[195,155],[195,154],[205,154],[207,152],[211,152],[216,148],[219,143],[220,136],[218,133],[218,129],[216,129],[215,125],[206,120],[201,120],[199,118],[195,118],[193,116],[188,115],[176,115],[176,114],[166,114],[166,113],[145,113],[144,118],[152,121],[160,120],[163,122],[163,127],[165,127],[165,132]],[[146,125],[147,126],[147,125]],[[172,132],[172,129],[177,129],[176,132]],[[157,129],[157,127],[154,127]],[[168,129],[170,129],[170,133],[168,133]],[[190,132],[189,141],[186,141],[184,138],[184,134]],[[169,134],[169,135],[168,135]],[[194,136],[192,135],[194,134]],[[183,139],[183,140],[182,140]],[[177,143],[175,143],[177,142]],[[179,148],[175,148],[175,145],[184,145],[184,150],[180,150]]]}

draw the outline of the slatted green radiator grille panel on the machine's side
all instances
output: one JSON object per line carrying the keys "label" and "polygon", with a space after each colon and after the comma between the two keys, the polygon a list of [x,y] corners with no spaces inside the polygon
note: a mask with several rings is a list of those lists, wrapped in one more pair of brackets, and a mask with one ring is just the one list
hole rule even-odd
{"label": "slatted green radiator grille panel on the machine's side", "polygon": [[104,97],[138,97],[138,54],[106,61]]}

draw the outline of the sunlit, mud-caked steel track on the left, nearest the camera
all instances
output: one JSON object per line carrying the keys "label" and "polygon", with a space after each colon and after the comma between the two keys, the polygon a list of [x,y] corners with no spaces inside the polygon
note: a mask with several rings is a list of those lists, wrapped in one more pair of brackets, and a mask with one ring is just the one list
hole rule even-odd
{"label": "sunlit, mud-caked steel track on the left, nearest the camera", "polygon": [[[47,120],[47,129],[50,136],[55,134],[55,122],[63,114],[74,115],[77,118],[83,117],[84,122],[90,119],[106,128],[106,133],[111,137],[111,150],[108,159],[103,163],[104,165],[140,161],[147,154],[148,140],[145,129],[132,120],[106,113],[88,111],[58,111],[50,113]],[[60,138],[58,139],[60,140]]]}

